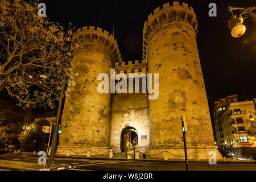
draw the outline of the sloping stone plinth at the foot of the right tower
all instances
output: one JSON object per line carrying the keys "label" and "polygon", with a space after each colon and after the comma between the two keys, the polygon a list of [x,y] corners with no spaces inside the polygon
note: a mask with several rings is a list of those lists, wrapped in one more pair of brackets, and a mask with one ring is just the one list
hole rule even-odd
{"label": "sloping stone plinth at the foot of the right tower", "polygon": [[[184,148],[159,148],[159,149],[150,149],[147,151],[147,155],[154,158],[164,158],[164,152],[166,151],[166,156],[168,159],[184,159]],[[217,148],[188,148],[187,154],[188,159],[194,159],[194,160],[209,160],[209,158],[212,156],[212,154],[209,155],[210,151],[216,152],[216,159],[222,160],[222,155],[217,150]],[[162,152],[162,154],[160,154]],[[170,154],[170,153],[171,154]],[[192,154],[193,153],[193,154]],[[157,155],[159,154],[159,155]],[[174,154],[174,155],[172,155]],[[191,155],[189,155],[191,154]]]}

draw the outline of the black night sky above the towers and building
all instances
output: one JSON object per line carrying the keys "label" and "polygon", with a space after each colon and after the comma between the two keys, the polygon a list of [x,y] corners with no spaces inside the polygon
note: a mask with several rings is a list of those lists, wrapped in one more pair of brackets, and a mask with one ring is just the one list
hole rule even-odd
{"label": "black night sky above the towers and building", "polygon": [[[78,1],[44,0],[46,14],[65,29],[69,22],[77,28],[97,26],[113,32],[122,60],[142,59],[142,29],[147,16],[164,3],[172,1]],[[238,101],[256,98],[256,24],[245,19],[246,32],[233,38],[228,29],[228,6],[252,7],[255,0],[180,1],[192,6],[197,15],[199,32],[196,35],[201,67],[210,111],[213,101],[238,94]],[[216,3],[217,17],[208,15],[209,3]],[[238,11],[237,11],[238,12]],[[5,95],[5,93],[2,93]]]}

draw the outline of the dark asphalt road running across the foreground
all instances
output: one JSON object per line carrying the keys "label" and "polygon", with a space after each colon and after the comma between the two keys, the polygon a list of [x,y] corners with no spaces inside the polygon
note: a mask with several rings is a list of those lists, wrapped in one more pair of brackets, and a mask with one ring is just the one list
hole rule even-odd
{"label": "dark asphalt road running across the foreground", "polygon": [[[1,167],[2,161],[9,162],[25,162],[30,164],[38,164],[39,156],[36,155],[0,155],[0,171],[13,170],[9,167]],[[136,160],[105,160],[105,159],[74,159],[74,158],[55,158],[54,164],[60,166],[71,165],[73,168],[68,170],[76,171],[185,171],[184,163],[175,162],[154,162],[154,161],[136,161]],[[15,169],[17,170],[17,169]],[[189,163],[191,171],[256,171],[255,164],[223,164],[217,163],[210,165],[208,163]]]}

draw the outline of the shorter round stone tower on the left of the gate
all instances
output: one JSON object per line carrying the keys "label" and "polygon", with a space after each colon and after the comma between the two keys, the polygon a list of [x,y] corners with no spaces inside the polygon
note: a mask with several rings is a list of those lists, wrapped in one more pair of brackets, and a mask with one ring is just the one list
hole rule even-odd
{"label": "shorter round stone tower on the left of the gate", "polygon": [[81,152],[109,151],[110,93],[97,92],[97,76],[110,75],[115,61],[122,61],[116,40],[107,31],[82,27],[73,35],[72,71],[62,116],[60,146]]}

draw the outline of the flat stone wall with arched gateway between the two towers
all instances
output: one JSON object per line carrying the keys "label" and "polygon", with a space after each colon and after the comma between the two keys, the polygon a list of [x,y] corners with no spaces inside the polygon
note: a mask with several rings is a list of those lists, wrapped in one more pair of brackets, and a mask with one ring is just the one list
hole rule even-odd
{"label": "flat stone wall with arched gateway between the two towers", "polygon": [[[145,73],[147,75],[147,63],[146,60],[115,63],[115,71],[116,74],[125,73],[127,77],[129,73],[138,73],[139,75]],[[139,94],[135,94],[134,91],[127,94],[112,94],[110,146],[114,152],[121,151],[121,132],[127,126],[137,130],[139,151],[147,151],[150,144],[147,96],[147,93],[141,92],[141,88]],[[142,135],[147,138],[142,138]]]}

